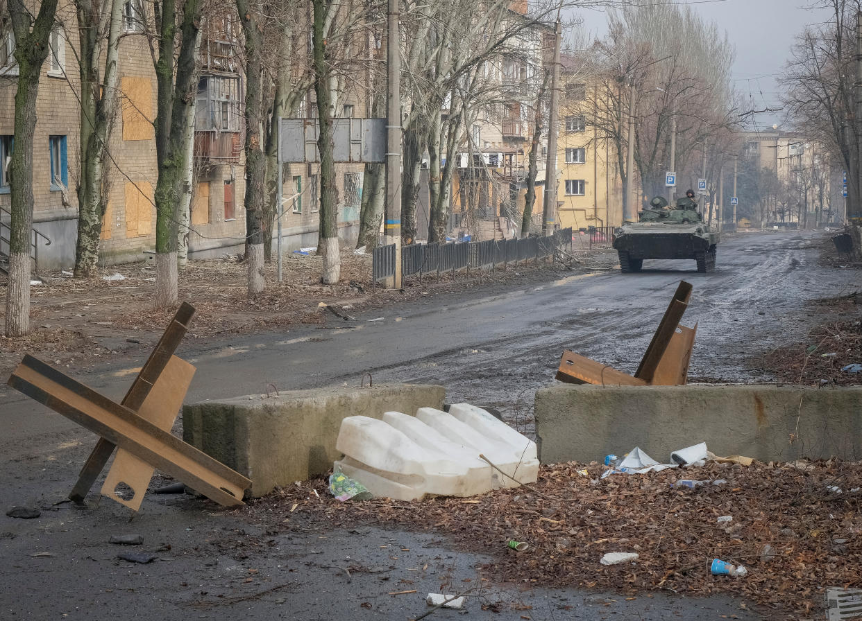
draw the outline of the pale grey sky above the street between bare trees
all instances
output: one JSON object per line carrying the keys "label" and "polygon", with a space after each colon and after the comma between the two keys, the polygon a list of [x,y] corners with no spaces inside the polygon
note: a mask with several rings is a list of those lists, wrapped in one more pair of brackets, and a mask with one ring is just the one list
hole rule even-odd
{"label": "pale grey sky above the street between bare trees", "polygon": [[[680,1],[679,3],[684,3]],[[805,9],[807,0],[715,0],[693,2],[706,20],[727,31],[736,48],[734,86],[746,99],[749,109],[778,108],[775,74],[790,57],[794,37],[809,23],[821,22],[828,13]],[[601,38],[606,32],[603,9],[578,9],[584,28]],[[762,93],[762,95],[761,95]],[[757,127],[780,123],[779,115],[755,115]]]}

